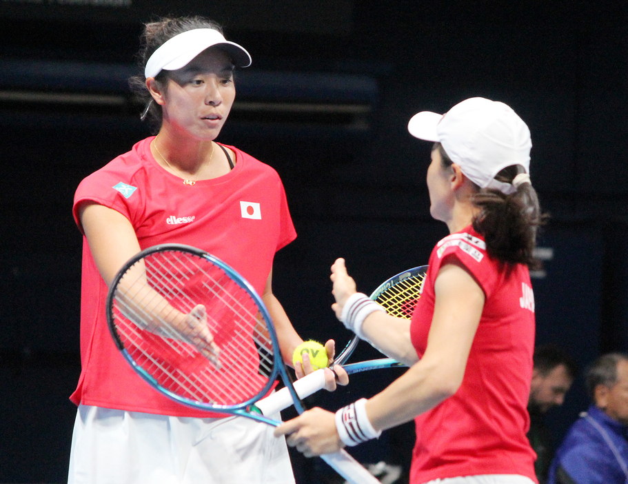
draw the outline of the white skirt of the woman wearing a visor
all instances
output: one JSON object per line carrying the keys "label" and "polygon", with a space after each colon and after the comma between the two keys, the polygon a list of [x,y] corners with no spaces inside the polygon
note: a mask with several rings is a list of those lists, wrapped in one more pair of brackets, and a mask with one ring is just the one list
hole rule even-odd
{"label": "white skirt of the woman wearing a visor", "polygon": [[245,417],[79,405],[68,484],[294,484],[284,438]]}

